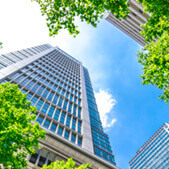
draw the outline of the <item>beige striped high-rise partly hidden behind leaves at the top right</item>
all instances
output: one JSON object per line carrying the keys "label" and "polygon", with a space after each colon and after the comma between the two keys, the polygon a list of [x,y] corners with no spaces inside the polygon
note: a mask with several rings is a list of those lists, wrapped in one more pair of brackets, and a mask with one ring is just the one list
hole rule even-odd
{"label": "beige striped high-rise partly hidden behind leaves at the top right", "polygon": [[130,36],[140,45],[145,46],[144,37],[140,35],[141,25],[149,18],[148,13],[143,13],[143,7],[136,0],[128,0],[128,10],[130,13],[127,18],[115,19],[115,16],[109,12],[106,20]]}

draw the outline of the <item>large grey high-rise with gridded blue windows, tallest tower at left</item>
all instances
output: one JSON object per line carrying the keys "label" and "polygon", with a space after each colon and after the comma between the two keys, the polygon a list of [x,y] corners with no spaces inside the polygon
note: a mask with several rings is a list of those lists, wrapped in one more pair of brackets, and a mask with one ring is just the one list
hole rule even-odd
{"label": "large grey high-rise with gridded blue windows, tallest tower at left", "polygon": [[73,157],[77,165],[117,169],[104,133],[88,70],[48,44],[0,56],[0,83],[18,84],[37,107],[46,131],[40,149],[28,157],[28,169]]}

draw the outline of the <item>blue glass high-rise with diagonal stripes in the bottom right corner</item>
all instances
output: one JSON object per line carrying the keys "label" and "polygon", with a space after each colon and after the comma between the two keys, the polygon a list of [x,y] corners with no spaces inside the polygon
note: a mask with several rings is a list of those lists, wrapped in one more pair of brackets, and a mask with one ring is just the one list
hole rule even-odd
{"label": "blue glass high-rise with diagonal stripes in the bottom right corner", "polygon": [[129,162],[130,169],[169,168],[169,123],[164,123],[136,152]]}

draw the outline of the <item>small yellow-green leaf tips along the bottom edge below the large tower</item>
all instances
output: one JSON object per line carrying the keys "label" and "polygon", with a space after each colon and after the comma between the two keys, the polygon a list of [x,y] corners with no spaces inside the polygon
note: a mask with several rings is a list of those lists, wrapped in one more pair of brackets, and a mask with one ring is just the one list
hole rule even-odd
{"label": "small yellow-green leaf tips along the bottom edge below the large tower", "polygon": [[79,167],[75,167],[75,162],[72,160],[72,158],[69,158],[67,162],[64,161],[56,161],[52,162],[50,165],[46,166],[43,165],[42,169],[87,169],[90,167],[90,164],[82,164]]}

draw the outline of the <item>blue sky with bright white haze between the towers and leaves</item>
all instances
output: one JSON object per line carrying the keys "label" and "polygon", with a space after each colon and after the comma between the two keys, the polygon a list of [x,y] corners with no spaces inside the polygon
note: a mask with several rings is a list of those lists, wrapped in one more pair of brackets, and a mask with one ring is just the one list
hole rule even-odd
{"label": "blue sky with bright white haze between the towers and leaves", "polygon": [[106,20],[97,28],[78,22],[77,38],[65,31],[49,38],[38,5],[30,0],[1,2],[0,20],[1,53],[50,43],[88,68],[102,118],[107,118],[104,125],[114,119],[105,130],[121,169],[128,169],[136,151],[168,122],[169,104],[158,99],[161,91],[141,84],[142,67],[136,56],[141,46]]}

